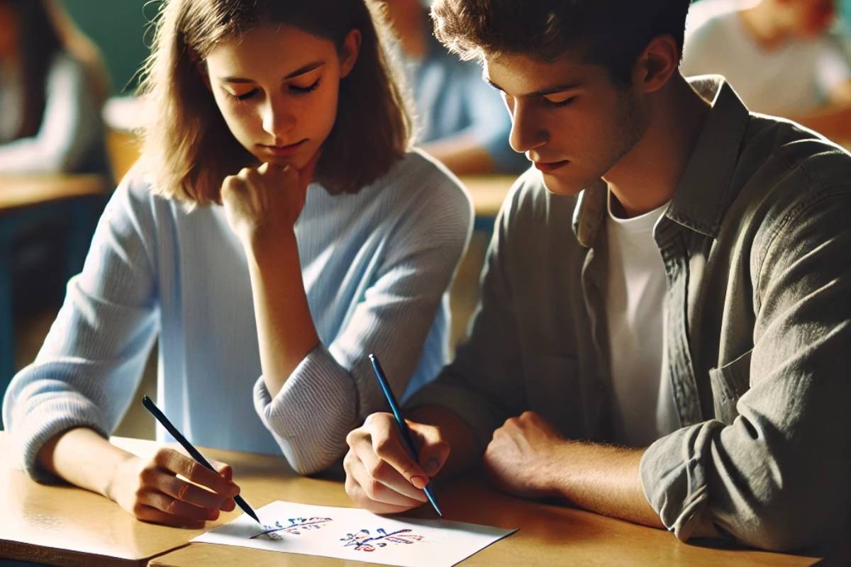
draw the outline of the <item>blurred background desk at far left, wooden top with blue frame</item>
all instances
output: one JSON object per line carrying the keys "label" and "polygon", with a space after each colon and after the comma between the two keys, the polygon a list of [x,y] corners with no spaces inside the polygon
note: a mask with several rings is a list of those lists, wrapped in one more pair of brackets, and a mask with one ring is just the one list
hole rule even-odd
{"label": "blurred background desk at far left, wooden top with blue frame", "polygon": [[0,397],[14,375],[14,247],[31,227],[64,223],[65,276],[82,266],[108,179],[80,174],[0,174]]}

